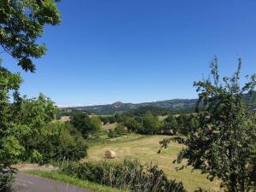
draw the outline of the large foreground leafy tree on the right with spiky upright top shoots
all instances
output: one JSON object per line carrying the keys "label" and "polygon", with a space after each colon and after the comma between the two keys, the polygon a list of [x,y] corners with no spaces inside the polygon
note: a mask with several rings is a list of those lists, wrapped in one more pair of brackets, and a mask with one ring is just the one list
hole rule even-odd
{"label": "large foreground leafy tree on the right with spiky upright top shoots", "polygon": [[230,192],[250,191],[256,182],[256,121],[243,99],[255,88],[256,75],[241,87],[240,71],[241,59],[236,73],[220,81],[218,59],[212,61],[212,80],[195,82],[202,103],[200,127],[187,138],[177,138],[187,146],[177,162],[188,159],[188,165],[208,173],[211,180],[220,178]]}

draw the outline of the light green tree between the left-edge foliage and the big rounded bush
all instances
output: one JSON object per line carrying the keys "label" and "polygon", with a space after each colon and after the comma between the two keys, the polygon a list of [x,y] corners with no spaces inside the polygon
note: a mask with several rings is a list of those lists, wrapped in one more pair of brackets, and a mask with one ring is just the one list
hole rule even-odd
{"label": "light green tree between the left-edge foliage and the big rounded bush", "polygon": [[[20,110],[14,117],[16,126],[9,133],[15,136],[20,144],[25,148],[22,160],[29,160],[36,152],[33,148],[38,148],[38,139],[44,135],[45,126],[55,119],[56,107],[54,102],[40,94],[38,98],[21,99]],[[42,154],[38,154],[42,155]]]}

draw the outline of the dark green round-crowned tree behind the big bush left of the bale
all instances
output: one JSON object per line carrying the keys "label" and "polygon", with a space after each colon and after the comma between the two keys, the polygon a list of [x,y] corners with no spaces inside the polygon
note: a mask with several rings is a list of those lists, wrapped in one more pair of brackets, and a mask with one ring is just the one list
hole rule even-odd
{"label": "dark green round-crowned tree behind the big bush left of the bale", "polygon": [[89,117],[86,114],[78,113],[71,117],[70,123],[82,133],[84,138],[96,136],[102,129],[102,121],[98,117]]}

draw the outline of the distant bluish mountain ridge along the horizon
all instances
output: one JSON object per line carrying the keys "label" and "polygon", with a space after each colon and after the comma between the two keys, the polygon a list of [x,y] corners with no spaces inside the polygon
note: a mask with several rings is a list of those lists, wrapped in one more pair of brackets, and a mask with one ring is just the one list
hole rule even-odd
{"label": "distant bluish mountain ridge along the horizon", "polygon": [[[253,91],[252,96],[249,94],[245,95],[245,100],[250,108],[256,108],[256,91]],[[96,106],[83,106],[83,107],[74,107],[79,111],[84,111],[88,113],[96,114],[115,114],[115,113],[128,113],[135,111],[135,109],[143,107],[155,107],[164,108],[170,111],[180,111],[188,110],[195,108],[197,99],[172,99],[160,102],[143,102],[143,103],[123,103],[123,102],[114,102],[113,104],[108,105],[96,105]],[[143,108],[144,110],[144,108]]]}

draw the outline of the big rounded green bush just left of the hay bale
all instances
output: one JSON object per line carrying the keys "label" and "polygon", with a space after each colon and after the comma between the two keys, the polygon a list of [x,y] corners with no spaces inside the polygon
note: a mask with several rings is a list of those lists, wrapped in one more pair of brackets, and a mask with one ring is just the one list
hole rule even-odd
{"label": "big rounded green bush just left of the hay bale", "polygon": [[38,136],[35,147],[42,154],[42,161],[80,160],[87,154],[87,145],[69,122],[55,122],[45,126],[44,134]]}

